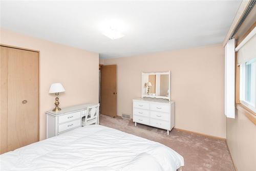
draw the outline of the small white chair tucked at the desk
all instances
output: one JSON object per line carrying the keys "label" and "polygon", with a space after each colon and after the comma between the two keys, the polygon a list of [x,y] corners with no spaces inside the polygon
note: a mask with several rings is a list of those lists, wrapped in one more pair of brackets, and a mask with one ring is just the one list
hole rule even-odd
{"label": "small white chair tucked at the desk", "polygon": [[86,114],[82,117],[82,126],[99,124],[99,104],[89,106]]}

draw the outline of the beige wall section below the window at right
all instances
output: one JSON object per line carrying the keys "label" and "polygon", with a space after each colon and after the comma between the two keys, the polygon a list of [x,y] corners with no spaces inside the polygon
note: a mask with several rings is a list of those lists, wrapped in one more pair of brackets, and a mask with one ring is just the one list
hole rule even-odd
{"label": "beige wall section below the window at right", "polygon": [[227,145],[238,171],[255,170],[256,126],[241,111],[227,119]]}

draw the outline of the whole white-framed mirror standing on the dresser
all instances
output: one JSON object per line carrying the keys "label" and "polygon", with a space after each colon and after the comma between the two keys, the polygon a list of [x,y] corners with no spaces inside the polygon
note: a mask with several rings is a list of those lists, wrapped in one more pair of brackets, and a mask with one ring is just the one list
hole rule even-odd
{"label": "whole white-framed mirror standing on the dresser", "polygon": [[170,100],[170,71],[141,74],[141,97]]}

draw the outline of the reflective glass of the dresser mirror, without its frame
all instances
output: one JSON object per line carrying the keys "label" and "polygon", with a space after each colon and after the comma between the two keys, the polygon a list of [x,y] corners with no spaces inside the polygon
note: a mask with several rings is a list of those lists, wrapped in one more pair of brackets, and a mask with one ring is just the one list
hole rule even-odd
{"label": "reflective glass of the dresser mirror, without its frame", "polygon": [[151,96],[169,95],[169,74],[143,75],[143,94]]}

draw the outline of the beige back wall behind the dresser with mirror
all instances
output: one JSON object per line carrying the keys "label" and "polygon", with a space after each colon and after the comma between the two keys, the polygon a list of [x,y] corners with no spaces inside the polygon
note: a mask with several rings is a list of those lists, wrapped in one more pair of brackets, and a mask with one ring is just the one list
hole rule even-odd
{"label": "beige back wall behind the dresser with mirror", "polygon": [[132,57],[105,59],[117,65],[118,115],[132,114],[141,95],[141,72],[172,73],[175,127],[226,138],[224,49],[221,45]]}

